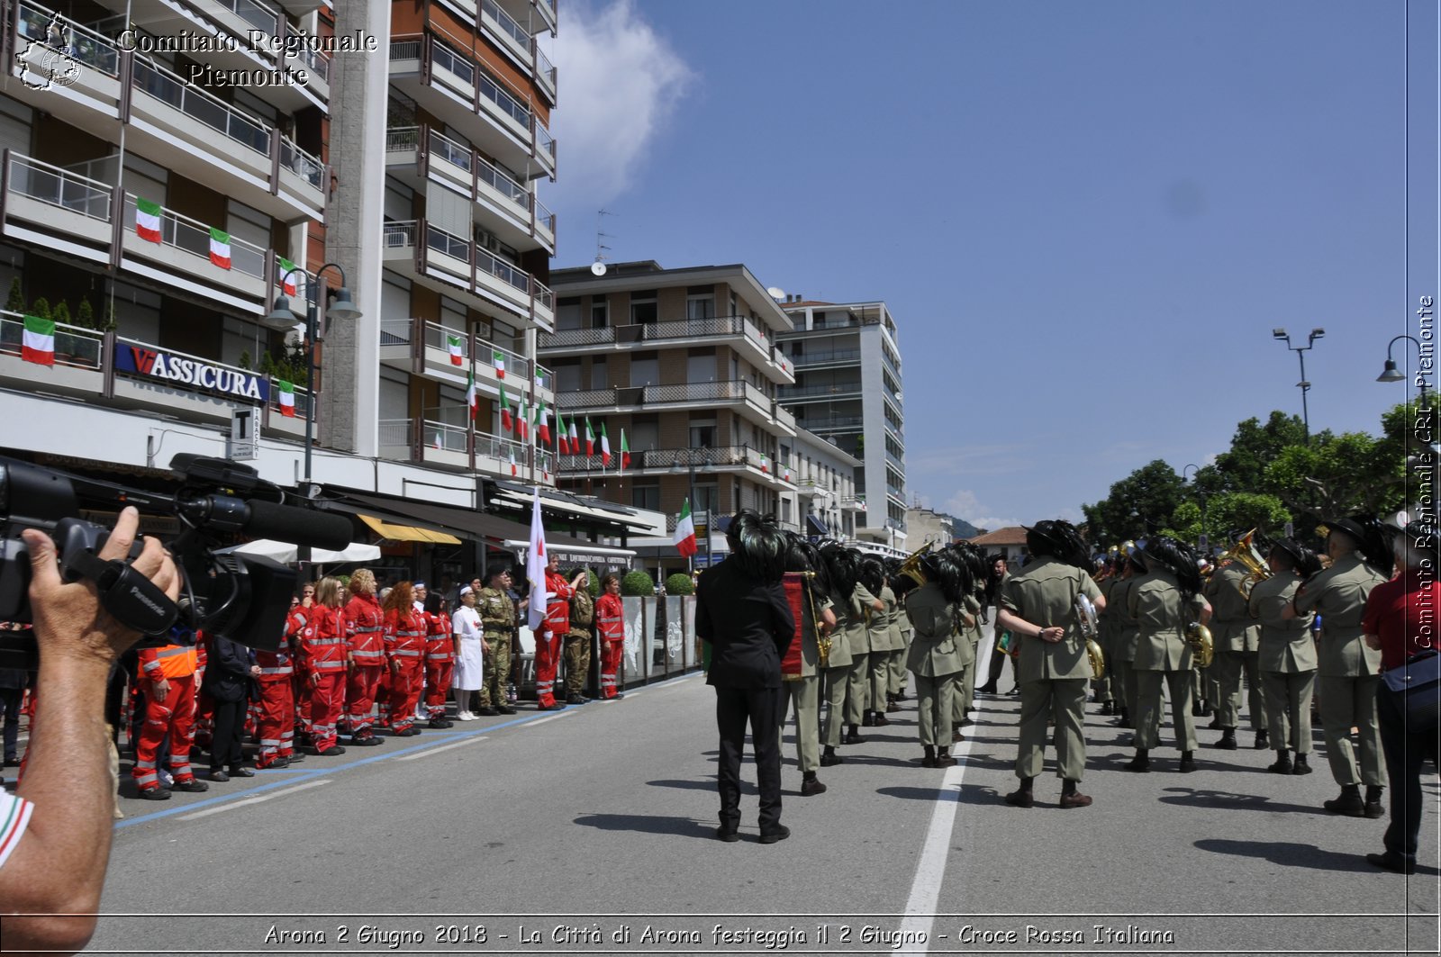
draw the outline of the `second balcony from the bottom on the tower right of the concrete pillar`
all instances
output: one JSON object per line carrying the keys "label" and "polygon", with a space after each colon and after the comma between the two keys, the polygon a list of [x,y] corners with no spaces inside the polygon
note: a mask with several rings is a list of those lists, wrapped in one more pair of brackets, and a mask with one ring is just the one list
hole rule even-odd
{"label": "second balcony from the bottom on the tower right of the concrete pillar", "polygon": [[[458,340],[460,365],[452,360],[451,339]],[[535,389],[530,389],[526,385],[530,362],[519,352],[503,349],[464,329],[450,329],[421,319],[380,320],[380,365],[461,386],[468,382],[474,368],[476,388],[483,395],[499,396],[500,385],[504,383],[516,399],[520,392],[532,392],[546,404],[555,404],[549,369],[536,366]]]}

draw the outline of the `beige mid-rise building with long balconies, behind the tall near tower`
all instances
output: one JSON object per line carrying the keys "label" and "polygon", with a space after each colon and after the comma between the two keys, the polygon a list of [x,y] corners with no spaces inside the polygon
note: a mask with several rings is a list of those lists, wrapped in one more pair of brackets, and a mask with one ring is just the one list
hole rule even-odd
{"label": "beige mid-rise building with long balconies, behind the tall near tower", "polygon": [[561,455],[561,487],[672,523],[692,489],[696,512],[780,513],[797,491],[795,419],[777,399],[794,382],[775,346],[785,313],[744,265],[607,265],[550,274],[556,329],[539,357],[566,419],[604,424],[617,458],[624,431],[631,464]]}

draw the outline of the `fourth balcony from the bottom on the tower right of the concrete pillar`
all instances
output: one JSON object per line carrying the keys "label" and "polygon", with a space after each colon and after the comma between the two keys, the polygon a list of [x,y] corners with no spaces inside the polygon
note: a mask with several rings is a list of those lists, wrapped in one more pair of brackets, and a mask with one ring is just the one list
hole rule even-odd
{"label": "fourth balcony from the bottom on the tower right of the concrete pillar", "polygon": [[555,213],[471,146],[428,127],[395,127],[385,150],[386,170],[408,186],[440,183],[470,199],[474,222],[506,245],[555,254]]}

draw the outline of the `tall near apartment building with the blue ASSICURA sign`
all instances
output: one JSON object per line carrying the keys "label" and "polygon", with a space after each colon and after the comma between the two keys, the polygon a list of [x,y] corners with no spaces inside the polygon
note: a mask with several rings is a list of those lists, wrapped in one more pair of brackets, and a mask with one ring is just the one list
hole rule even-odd
{"label": "tall near apartment building with the blue ASSICURA sign", "polygon": [[46,1],[0,4],[0,448],[163,468],[254,408],[282,486],[474,509],[550,477],[497,401],[555,404],[553,0]]}

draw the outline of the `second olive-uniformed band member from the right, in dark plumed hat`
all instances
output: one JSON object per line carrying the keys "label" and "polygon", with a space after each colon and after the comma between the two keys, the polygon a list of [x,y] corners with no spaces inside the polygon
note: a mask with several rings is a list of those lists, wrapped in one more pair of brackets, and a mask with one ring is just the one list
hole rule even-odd
{"label": "second olive-uniformed band member from the right, in dark plumed hat", "polygon": [[[1316,552],[1295,539],[1281,539],[1267,558],[1271,577],[1251,589],[1248,611],[1261,628],[1258,664],[1271,724],[1275,774],[1310,774],[1311,692],[1316,687],[1313,614],[1285,617],[1301,582],[1321,571]],[[1295,751],[1295,761],[1291,760]]]}

